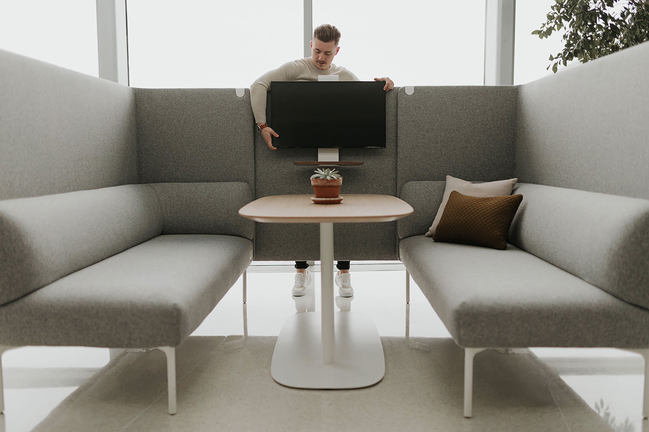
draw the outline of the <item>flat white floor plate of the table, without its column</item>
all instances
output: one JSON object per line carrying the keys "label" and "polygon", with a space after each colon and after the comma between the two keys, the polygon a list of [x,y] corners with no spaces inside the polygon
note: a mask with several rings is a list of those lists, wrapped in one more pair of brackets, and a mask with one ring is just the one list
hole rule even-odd
{"label": "flat white floor plate of the table, without its column", "polygon": [[286,320],[273,352],[271,376],[299,389],[358,389],[383,379],[386,362],[373,321],[360,313],[335,312],[334,361],[323,363],[321,313]]}

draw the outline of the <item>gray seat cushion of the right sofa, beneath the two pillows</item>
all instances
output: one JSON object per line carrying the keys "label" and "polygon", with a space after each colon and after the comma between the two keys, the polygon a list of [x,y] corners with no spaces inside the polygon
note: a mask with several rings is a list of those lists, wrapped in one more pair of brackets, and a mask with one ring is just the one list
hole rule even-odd
{"label": "gray seat cushion of the right sofa, beneath the two pillows", "polygon": [[508,244],[412,236],[400,258],[461,347],[649,347],[649,310]]}

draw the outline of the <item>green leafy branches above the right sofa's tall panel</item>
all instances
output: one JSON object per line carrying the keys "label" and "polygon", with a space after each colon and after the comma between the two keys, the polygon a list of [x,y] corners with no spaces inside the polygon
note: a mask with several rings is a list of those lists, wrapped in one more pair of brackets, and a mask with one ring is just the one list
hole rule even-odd
{"label": "green leafy branches above the right sofa's tall panel", "polygon": [[539,38],[565,28],[565,48],[550,54],[552,72],[577,58],[585,63],[649,40],[649,1],[555,0],[548,20],[534,30]]}

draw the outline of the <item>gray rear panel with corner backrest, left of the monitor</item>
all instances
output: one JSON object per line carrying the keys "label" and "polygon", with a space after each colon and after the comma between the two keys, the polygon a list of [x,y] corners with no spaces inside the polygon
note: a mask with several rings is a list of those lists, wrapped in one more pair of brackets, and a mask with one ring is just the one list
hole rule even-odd
{"label": "gray rear panel with corner backrest, left of the monitor", "polygon": [[254,196],[250,90],[134,91],[138,179],[158,183],[163,232],[253,238],[254,222],[237,213]]}

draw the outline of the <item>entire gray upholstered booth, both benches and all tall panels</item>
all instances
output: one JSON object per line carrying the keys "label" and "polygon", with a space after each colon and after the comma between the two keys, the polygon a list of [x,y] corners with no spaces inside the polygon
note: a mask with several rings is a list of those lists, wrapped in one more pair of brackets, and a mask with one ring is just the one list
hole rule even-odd
{"label": "entire gray upholstered booth, both benches and all tall panels", "polygon": [[[340,151],[364,162],[343,194],[415,213],[336,225],[335,258],[404,262],[465,348],[465,415],[484,348],[647,358],[648,69],[643,43],[524,85],[395,88],[386,147]],[[131,88],[0,50],[0,345],[174,347],[251,245],[256,260],[318,259],[315,224],[234,216],[312,192],[293,161],[316,150],[271,152],[252,124],[247,89]],[[447,175],[519,178],[508,249],[423,236]]]}

